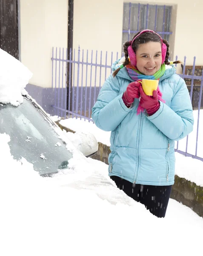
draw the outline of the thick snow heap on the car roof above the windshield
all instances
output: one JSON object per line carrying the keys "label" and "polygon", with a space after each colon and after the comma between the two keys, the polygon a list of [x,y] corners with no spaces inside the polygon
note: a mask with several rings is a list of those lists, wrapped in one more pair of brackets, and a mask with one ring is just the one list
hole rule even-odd
{"label": "thick snow heap on the car roof above the windshield", "polygon": [[26,95],[32,73],[20,61],[0,49],[0,102],[18,106]]}

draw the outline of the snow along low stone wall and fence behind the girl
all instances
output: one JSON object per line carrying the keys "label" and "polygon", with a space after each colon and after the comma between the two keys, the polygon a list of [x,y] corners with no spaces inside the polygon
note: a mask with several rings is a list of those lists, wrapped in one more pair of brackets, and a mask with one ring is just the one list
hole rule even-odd
{"label": "snow along low stone wall and fence behind the girl", "polygon": [[[189,135],[189,148],[188,152],[195,152],[196,146],[196,127],[197,127],[197,114],[198,111],[194,111],[194,131]],[[93,122],[88,122],[84,119],[61,119],[60,124],[64,127],[71,129],[72,131],[89,131],[98,142],[110,146],[110,134],[111,132],[102,131]],[[199,129],[199,151],[203,153],[203,110],[200,111],[200,129]],[[185,150],[184,144],[186,144],[186,138],[179,141],[179,149]],[[176,166],[175,173],[177,176],[185,178],[191,182],[197,184],[197,186],[203,186],[203,161],[193,159],[192,157],[185,157],[175,152]],[[202,156],[203,157],[203,156]],[[195,166],[195,168],[194,168]]]}

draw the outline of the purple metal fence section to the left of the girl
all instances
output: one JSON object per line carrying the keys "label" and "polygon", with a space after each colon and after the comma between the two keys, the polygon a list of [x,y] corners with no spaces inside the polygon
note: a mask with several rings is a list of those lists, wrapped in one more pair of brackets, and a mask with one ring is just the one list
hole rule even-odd
{"label": "purple metal fence section to the left of the girl", "polygon": [[[72,54],[73,53],[73,54]],[[81,58],[82,53],[82,60]],[[55,55],[55,56],[54,56]],[[62,55],[62,58],[61,58]],[[70,59],[64,58],[64,48],[52,49],[52,88],[54,89],[55,114],[66,117],[80,117],[93,122],[91,119],[91,108],[97,100],[101,85],[111,74],[113,59],[118,59],[118,52],[108,55],[106,52],[103,58],[103,52],[100,52],[98,61],[98,51],[95,52],[93,61],[93,50],[89,55],[86,51],[86,61],[84,50],[70,50]],[[69,68],[68,68],[69,63]],[[72,76],[71,76],[71,71]],[[66,82],[64,82],[66,81]],[[66,85],[65,85],[66,84]],[[67,90],[67,84],[69,84]],[[65,95],[65,96],[64,96]]]}

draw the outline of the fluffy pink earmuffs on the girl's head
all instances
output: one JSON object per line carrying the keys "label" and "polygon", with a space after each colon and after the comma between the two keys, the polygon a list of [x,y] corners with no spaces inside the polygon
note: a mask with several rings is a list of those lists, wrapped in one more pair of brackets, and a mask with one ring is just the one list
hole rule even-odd
{"label": "fluffy pink earmuffs on the girl's head", "polygon": [[[136,54],[134,53],[134,50],[132,49],[132,43],[134,42],[134,40],[141,34],[145,33],[145,32],[153,32],[155,34],[157,34],[156,32],[154,32],[153,30],[150,29],[145,29],[143,31],[140,32],[140,34],[138,34],[132,41],[131,41],[131,45],[128,47],[128,55],[130,58],[130,63],[132,64],[132,66],[136,67],[137,65],[137,59],[136,59]],[[157,34],[158,35],[158,34]],[[158,35],[160,37],[160,35]],[[166,59],[166,51],[167,51],[167,46],[166,44],[163,43],[163,39],[160,37],[161,39],[161,55],[162,55],[162,63],[164,63],[165,59]]]}

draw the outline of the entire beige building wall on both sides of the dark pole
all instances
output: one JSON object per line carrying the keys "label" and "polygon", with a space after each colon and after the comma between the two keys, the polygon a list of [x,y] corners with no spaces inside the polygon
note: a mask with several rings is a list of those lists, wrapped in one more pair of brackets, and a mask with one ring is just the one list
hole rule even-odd
{"label": "entire beige building wall on both sides of the dark pole", "polygon": [[[203,65],[202,0],[195,0],[195,3],[191,0],[131,2],[172,5],[171,31],[174,44],[171,44],[171,50],[174,56],[178,55],[178,59],[183,60],[186,55],[186,64],[191,65],[195,55],[196,65]],[[98,50],[97,63],[100,63],[102,50],[102,63],[105,63],[106,51],[108,51],[107,64],[110,64],[111,52],[114,53],[113,60],[116,59],[116,52],[119,57],[121,55],[122,29],[123,0],[74,0],[73,47],[76,49],[76,59],[80,45],[80,60],[82,49],[84,49],[84,60],[86,60],[86,50],[89,49],[90,61],[93,49],[93,61],[95,62],[95,51]],[[20,30],[21,61],[33,73],[30,83],[51,87],[52,47],[67,47],[68,0],[20,0]],[[104,73],[105,70],[102,72]],[[94,75],[91,80],[94,81]],[[88,81],[87,85],[89,84]]]}

